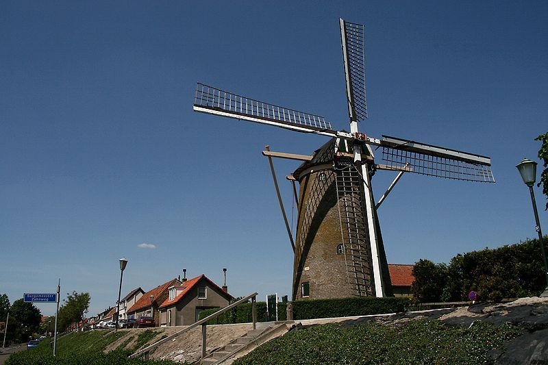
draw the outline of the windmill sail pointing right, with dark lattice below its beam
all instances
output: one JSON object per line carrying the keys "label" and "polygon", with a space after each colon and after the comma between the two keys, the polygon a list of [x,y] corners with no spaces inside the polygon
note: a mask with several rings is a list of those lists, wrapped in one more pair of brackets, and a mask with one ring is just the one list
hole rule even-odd
{"label": "windmill sail pointing right, with dark lattice below its beam", "polygon": [[491,159],[431,144],[383,136],[382,160],[390,168],[446,179],[495,182]]}

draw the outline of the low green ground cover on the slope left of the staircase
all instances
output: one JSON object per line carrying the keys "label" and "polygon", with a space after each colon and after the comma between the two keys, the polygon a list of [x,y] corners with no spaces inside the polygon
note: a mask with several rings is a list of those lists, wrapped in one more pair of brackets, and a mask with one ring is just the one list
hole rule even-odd
{"label": "low green ground cover on the slope left of the staircase", "polygon": [[[146,333],[146,334],[143,334]],[[139,334],[138,342],[145,344],[155,336],[153,331]],[[58,339],[57,356],[53,357],[53,339],[44,340],[36,349],[14,353],[8,357],[5,365],[174,365],[179,363],[167,360],[131,359],[132,351],[122,347],[109,353],[103,353],[105,347],[124,335],[123,331],[75,332]],[[129,342],[128,342],[129,343]]]}

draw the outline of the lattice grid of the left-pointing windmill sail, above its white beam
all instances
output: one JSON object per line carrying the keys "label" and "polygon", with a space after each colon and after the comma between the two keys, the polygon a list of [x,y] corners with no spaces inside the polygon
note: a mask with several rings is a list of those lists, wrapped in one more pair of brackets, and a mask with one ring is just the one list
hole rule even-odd
{"label": "lattice grid of the left-pointing windmill sail, above its white beam", "polygon": [[314,127],[317,129],[331,129],[331,124],[323,116],[298,112],[278,105],[249,99],[212,86],[197,84],[194,105],[241,114],[256,118],[270,119],[295,125]]}

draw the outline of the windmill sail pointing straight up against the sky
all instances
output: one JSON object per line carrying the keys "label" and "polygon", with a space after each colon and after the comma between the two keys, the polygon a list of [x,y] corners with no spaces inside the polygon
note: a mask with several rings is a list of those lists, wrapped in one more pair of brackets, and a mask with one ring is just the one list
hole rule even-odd
{"label": "windmill sail pointing straight up against the sky", "polygon": [[339,18],[340,40],[347,81],[348,112],[351,121],[367,118],[365,91],[365,47],[364,25],[354,24]]}

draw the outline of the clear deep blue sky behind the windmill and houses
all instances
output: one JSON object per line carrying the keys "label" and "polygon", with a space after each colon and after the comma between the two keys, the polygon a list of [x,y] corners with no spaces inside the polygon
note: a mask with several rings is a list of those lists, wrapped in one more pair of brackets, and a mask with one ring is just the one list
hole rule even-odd
{"label": "clear deep blue sky behind the windmill and houses", "polygon": [[[123,294],[182,268],[222,284],[223,267],[234,296],[290,294],[260,151],[312,153],[325,138],[192,101],[201,81],[348,129],[339,16],[366,25],[362,131],[493,158],[497,184],[404,176],[379,210],[388,262],[534,238],[515,165],[540,162],[533,139],[548,131],[545,1],[3,1],[0,293],[13,302],[61,278],[96,314],[114,305],[125,256]],[[284,177],[297,164],[275,166]],[[375,175],[377,199],[394,177]]]}

